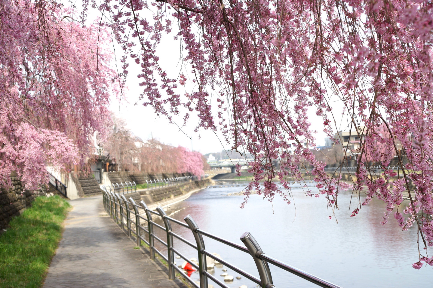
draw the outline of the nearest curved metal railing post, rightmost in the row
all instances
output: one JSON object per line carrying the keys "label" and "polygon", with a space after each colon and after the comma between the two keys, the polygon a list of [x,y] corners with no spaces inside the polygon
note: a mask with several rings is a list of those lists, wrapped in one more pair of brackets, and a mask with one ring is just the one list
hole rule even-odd
{"label": "nearest curved metal railing post, rightmost in the row", "polygon": [[251,233],[245,232],[240,237],[242,243],[247,247],[249,253],[254,259],[255,266],[257,266],[257,270],[259,270],[260,282],[262,282],[262,288],[270,288],[274,287],[272,284],[272,275],[271,270],[269,270],[268,262],[259,258],[260,254],[263,254],[262,249],[259,246],[259,243],[252,237]]}

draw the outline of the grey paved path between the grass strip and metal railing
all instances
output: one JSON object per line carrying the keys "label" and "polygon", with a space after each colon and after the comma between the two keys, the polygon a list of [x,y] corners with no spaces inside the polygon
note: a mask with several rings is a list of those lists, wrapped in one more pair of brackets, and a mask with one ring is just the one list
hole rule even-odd
{"label": "grey paved path between the grass strip and metal railing", "polygon": [[102,196],[70,201],[73,210],[44,288],[179,288],[114,224]]}

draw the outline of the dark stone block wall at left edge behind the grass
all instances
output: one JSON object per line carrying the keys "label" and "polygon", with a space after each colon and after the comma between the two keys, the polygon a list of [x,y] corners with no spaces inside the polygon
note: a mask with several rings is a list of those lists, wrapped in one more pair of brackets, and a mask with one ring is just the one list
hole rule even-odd
{"label": "dark stone block wall at left edge behind the grass", "polygon": [[0,189],[0,229],[5,229],[13,217],[23,213],[39,196],[29,191],[21,193],[21,182],[17,178],[17,176],[11,176],[12,187],[10,189]]}

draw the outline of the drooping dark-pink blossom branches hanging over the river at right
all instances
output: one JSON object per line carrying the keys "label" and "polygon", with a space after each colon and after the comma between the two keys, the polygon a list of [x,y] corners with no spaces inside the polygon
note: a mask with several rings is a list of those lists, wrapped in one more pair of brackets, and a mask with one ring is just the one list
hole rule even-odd
{"label": "drooping dark-pink blossom branches hanging over the river at right", "polygon": [[[366,188],[365,200],[352,215],[376,197],[387,205],[385,224],[397,207],[394,217],[404,230],[416,225],[421,239],[418,244],[424,248],[414,268],[419,269],[423,262],[433,265],[433,258],[427,255],[427,247],[433,245],[431,3],[149,3],[107,0],[93,5],[111,13],[113,21],[105,25],[141,66],[143,105],[169,119],[180,107],[186,107],[188,113],[195,110],[200,117],[197,129],[220,129],[234,150],[244,149],[253,155],[249,171],[254,177],[245,201],[256,189],[269,200],[281,195],[290,203],[288,176],[304,183],[302,168],[311,166],[307,178],[317,182],[319,192],[306,193],[324,195],[333,210],[331,217],[338,208],[339,191],[353,189],[359,195]],[[144,16],[149,13],[151,17]],[[169,78],[156,56],[162,35],[171,33],[173,27],[186,51],[182,61],[191,66],[196,87],[184,95],[186,101],[175,91],[181,88],[177,83],[184,85],[187,77],[181,75],[178,81]],[[126,57],[122,61],[126,71]],[[218,95],[216,114],[207,91]],[[347,118],[347,128],[359,137],[359,149],[345,148],[346,158],[355,154],[357,159],[353,186],[340,181],[343,164],[330,176],[324,171],[326,163],[314,154],[314,131],[307,110],[315,109],[323,118],[323,131],[338,144],[342,139],[334,138],[339,131],[332,104],[336,100]],[[388,167],[394,158],[403,177]],[[380,166],[384,172],[377,173],[372,166]],[[279,179],[285,190],[279,189],[274,179]],[[410,205],[401,208],[405,190]]]}

